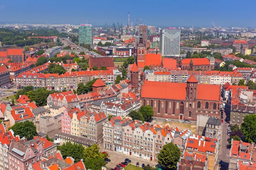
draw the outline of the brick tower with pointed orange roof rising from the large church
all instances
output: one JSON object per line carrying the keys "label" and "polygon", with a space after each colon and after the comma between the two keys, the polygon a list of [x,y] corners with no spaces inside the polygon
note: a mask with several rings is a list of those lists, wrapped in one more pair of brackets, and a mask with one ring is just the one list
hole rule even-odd
{"label": "brick tower with pointed orange roof rising from the large church", "polygon": [[187,80],[186,99],[195,101],[197,98],[198,81],[192,74]]}

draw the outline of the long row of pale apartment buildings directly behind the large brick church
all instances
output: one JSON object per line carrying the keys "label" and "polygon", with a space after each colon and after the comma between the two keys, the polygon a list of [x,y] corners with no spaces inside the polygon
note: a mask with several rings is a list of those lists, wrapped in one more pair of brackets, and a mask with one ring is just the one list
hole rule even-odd
{"label": "long row of pale apartment buildings directly behind the large brick church", "polygon": [[238,84],[243,79],[242,74],[237,71],[152,71],[145,70],[145,80],[155,82],[186,82],[194,75],[200,84],[224,85]]}

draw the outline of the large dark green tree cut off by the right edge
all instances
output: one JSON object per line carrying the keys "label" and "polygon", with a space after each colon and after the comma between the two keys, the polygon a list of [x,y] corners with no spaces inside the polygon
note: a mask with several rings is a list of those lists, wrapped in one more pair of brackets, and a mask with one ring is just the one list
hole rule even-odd
{"label": "large dark green tree cut off by the right edge", "polygon": [[256,114],[249,114],[244,117],[241,131],[247,142],[256,142]]}

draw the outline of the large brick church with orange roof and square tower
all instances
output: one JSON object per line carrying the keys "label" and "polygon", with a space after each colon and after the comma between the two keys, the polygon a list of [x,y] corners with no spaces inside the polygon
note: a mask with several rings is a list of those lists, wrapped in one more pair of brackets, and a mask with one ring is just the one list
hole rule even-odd
{"label": "large brick church with orange roof and square tower", "polygon": [[196,120],[197,115],[219,117],[220,85],[198,84],[192,74],[186,83],[145,81],[141,105],[150,105],[154,116]]}

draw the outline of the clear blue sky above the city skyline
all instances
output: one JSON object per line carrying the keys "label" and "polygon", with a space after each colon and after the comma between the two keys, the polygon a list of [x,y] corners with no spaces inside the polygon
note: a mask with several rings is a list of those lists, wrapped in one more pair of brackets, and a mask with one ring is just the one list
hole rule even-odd
{"label": "clear blue sky above the city skyline", "polygon": [[256,27],[256,0],[1,0],[0,23]]}

